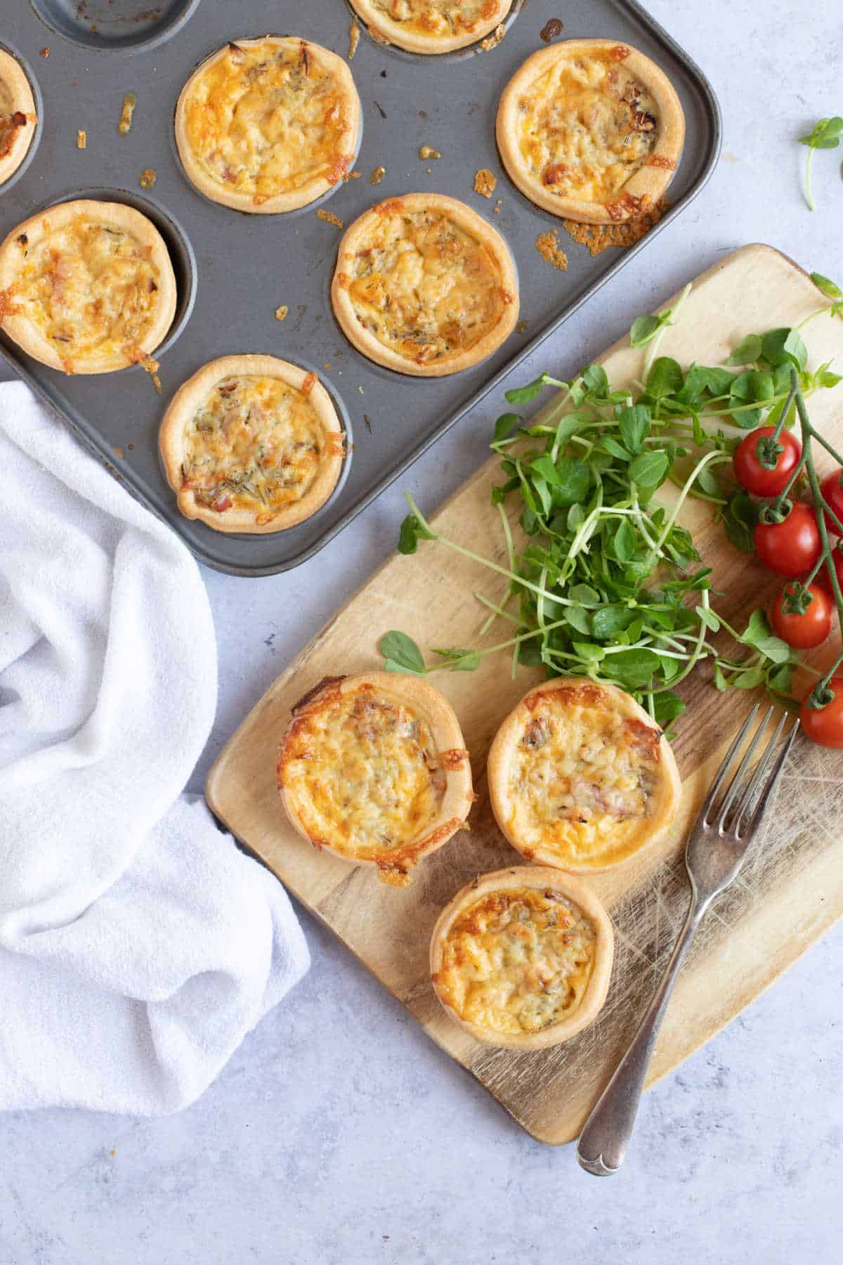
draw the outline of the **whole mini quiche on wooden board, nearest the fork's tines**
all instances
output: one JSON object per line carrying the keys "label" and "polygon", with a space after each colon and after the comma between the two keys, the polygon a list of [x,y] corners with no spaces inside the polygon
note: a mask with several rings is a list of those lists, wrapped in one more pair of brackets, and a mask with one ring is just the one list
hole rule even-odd
{"label": "whole mini quiche on wooden board, nearest the fork's tines", "polygon": [[560,677],[536,686],[489,750],[500,830],[527,860],[588,874],[655,844],[679,808],[666,737],[616,686]]}

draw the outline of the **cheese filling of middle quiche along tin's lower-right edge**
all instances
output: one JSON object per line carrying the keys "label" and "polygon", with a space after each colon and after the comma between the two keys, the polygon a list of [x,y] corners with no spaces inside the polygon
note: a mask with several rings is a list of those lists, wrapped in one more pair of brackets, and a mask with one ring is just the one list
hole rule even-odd
{"label": "cheese filling of middle quiche along tin's lower-right edge", "polygon": [[385,202],[354,256],[348,288],[360,324],[417,364],[461,355],[512,302],[489,248],[437,210]]}

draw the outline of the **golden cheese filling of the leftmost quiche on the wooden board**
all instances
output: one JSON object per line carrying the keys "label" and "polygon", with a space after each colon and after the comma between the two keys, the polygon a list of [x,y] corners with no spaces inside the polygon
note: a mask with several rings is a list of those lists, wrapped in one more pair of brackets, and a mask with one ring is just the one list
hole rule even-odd
{"label": "golden cheese filling of the leftmost quiche on the wooden board", "polygon": [[430,726],[368,684],[293,722],[279,775],[313,842],[351,856],[417,842],[445,796]]}

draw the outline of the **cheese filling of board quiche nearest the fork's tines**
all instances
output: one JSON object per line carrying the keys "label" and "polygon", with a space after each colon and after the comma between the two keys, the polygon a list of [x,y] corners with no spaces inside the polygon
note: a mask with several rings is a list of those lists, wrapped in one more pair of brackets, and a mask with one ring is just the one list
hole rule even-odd
{"label": "cheese filling of board quiche nearest the fork's tines", "polygon": [[532,697],[512,753],[509,825],[560,861],[609,864],[647,830],[660,774],[660,731],[624,719],[599,688]]}

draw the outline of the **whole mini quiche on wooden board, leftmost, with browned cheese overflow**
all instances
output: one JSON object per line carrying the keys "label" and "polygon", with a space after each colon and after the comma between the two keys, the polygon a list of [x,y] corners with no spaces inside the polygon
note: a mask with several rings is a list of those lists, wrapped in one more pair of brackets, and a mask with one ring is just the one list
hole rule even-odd
{"label": "whole mini quiche on wooden board, leftmost, with browned cheese overflow", "polygon": [[287,816],[315,848],[393,887],[460,830],[474,802],[459,721],[418,677],[327,677],[293,707],[278,758]]}

